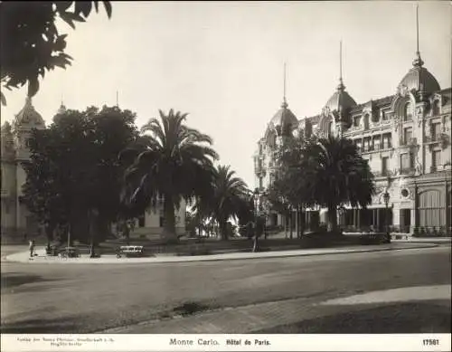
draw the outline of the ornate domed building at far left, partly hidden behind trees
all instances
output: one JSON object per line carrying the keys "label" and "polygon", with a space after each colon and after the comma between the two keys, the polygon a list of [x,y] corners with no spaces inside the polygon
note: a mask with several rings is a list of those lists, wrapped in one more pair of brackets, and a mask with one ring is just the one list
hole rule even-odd
{"label": "ornate domed building at far left, partly hidden behind trees", "polygon": [[[58,113],[65,107],[61,104]],[[26,233],[29,238],[40,233],[40,225],[25,205],[19,201],[26,175],[22,163],[29,159],[28,138],[33,128],[45,128],[42,116],[37,112],[31,99],[25,100],[24,108],[19,111],[10,124],[5,122],[1,129],[1,234],[2,237],[23,239]],[[185,204],[175,213],[176,233],[185,233]],[[155,210],[147,209],[145,214],[136,220],[136,228],[131,236],[158,237],[163,231],[163,202]]]}

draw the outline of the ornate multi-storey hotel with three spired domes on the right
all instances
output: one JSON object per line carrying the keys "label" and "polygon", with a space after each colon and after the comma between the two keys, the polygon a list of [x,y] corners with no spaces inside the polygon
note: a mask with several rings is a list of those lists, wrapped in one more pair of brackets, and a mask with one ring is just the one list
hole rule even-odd
{"label": "ornate multi-storey hotel with three spired domes on the right", "polygon": [[[297,119],[284,99],[258,142],[256,186],[264,190],[272,184],[278,173],[275,148],[300,131],[307,136],[350,138],[371,166],[376,194],[368,209],[345,206],[338,215],[339,224],[381,230],[388,215],[388,223],[400,233],[450,232],[451,99],[451,88],[439,87],[419,51],[396,93],[387,97],[357,103],[345,90],[341,74],[337,89],[318,115]],[[382,197],[386,191],[388,211]],[[324,222],[325,212],[306,211],[307,226]],[[267,221],[286,223],[281,214],[270,214]]]}

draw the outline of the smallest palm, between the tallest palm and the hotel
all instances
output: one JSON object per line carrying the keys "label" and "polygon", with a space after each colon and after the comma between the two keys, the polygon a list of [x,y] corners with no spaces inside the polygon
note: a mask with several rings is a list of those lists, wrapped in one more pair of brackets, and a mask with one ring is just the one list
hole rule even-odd
{"label": "smallest palm, between the tallest palm and the hotel", "polygon": [[240,177],[234,176],[235,171],[230,167],[217,166],[213,178],[212,197],[196,205],[198,212],[212,216],[218,224],[223,240],[227,240],[229,236],[228,220],[231,217],[237,218],[244,197],[249,192],[245,182]]}

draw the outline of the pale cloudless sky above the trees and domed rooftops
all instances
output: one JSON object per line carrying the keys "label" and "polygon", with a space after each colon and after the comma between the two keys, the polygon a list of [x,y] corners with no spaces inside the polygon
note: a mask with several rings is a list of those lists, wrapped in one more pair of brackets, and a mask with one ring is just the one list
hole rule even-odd
{"label": "pale cloudless sky above the trees and domed rooftops", "polygon": [[[213,138],[222,165],[254,185],[252,155],[283,100],[301,119],[318,114],[339,78],[358,103],[395,93],[416,52],[415,2],[113,2],[68,33],[67,70],[46,74],[33,97],[50,124],[68,109],[113,106],[137,113],[187,112]],[[451,86],[451,3],[419,2],[419,49],[442,89]],[[4,90],[2,123],[26,88]]]}

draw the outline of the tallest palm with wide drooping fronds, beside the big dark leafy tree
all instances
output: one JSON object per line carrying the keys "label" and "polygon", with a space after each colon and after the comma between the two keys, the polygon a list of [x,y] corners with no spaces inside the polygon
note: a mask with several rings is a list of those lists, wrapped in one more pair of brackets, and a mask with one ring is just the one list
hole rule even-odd
{"label": "tallest palm with wide drooping fronds, beside the big dark leafy tree", "polygon": [[[217,153],[212,149],[212,138],[184,125],[187,114],[168,115],[159,110],[160,120],[150,119],[141,128],[146,135],[135,151],[134,162],[127,167],[123,200],[136,212],[155,207],[163,198],[164,231],[167,242],[176,242],[174,209],[184,198],[211,196],[214,175],[213,160]],[[124,154],[127,154],[126,152]]]}

